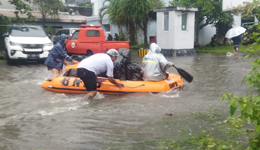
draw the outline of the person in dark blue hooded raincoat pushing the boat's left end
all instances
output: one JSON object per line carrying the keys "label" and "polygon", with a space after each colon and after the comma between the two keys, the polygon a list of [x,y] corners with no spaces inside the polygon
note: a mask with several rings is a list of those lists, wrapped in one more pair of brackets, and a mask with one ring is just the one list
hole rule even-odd
{"label": "person in dark blue hooded raincoat pushing the boat's left end", "polygon": [[55,44],[54,47],[50,50],[48,57],[44,61],[44,64],[46,64],[48,70],[54,74],[54,77],[58,77],[62,74],[63,63],[66,64],[64,59],[69,60],[72,63],[79,63],[78,61],[69,57],[65,52],[68,39],[69,37],[67,35],[61,34],[59,42]]}

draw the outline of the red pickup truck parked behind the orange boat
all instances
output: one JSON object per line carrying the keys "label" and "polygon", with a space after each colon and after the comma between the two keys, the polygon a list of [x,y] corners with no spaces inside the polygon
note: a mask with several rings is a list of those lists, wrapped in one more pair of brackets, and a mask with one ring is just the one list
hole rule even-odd
{"label": "red pickup truck parked behind the orange boat", "polygon": [[106,53],[111,48],[116,50],[119,48],[129,49],[128,41],[107,41],[101,26],[80,25],[80,27],[83,28],[77,29],[66,45],[68,55]]}

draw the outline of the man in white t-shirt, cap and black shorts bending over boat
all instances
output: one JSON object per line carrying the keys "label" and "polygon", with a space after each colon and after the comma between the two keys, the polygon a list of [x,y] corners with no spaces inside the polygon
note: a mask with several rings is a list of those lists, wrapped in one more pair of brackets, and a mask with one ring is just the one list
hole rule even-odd
{"label": "man in white t-shirt, cap and black shorts bending over boat", "polygon": [[119,54],[116,49],[110,49],[107,51],[107,54],[95,54],[79,63],[77,74],[88,91],[83,100],[85,98],[92,99],[97,94],[97,82],[101,83],[103,81],[97,77],[101,72],[106,71],[107,78],[111,83],[116,85],[119,89],[124,88],[124,84],[116,82],[113,78],[113,62],[117,60],[118,56]]}

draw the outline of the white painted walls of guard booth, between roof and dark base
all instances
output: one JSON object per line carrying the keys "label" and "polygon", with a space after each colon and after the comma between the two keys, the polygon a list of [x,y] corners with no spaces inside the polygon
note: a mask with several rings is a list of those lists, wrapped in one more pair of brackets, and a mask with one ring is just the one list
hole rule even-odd
{"label": "white painted walls of guard booth, between roof and dark base", "polygon": [[157,44],[162,49],[194,48],[195,13],[188,12],[188,31],[181,30],[181,11],[169,11],[169,31],[163,31],[163,12],[157,12]]}

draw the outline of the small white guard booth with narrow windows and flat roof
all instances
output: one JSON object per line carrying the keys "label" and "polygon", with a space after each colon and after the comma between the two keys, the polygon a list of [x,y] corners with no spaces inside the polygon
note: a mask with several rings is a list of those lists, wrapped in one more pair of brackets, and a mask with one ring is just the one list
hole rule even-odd
{"label": "small white guard booth with narrow windows and flat roof", "polygon": [[154,9],[157,13],[157,44],[164,55],[196,55],[195,11],[198,11],[198,8],[181,6]]}

